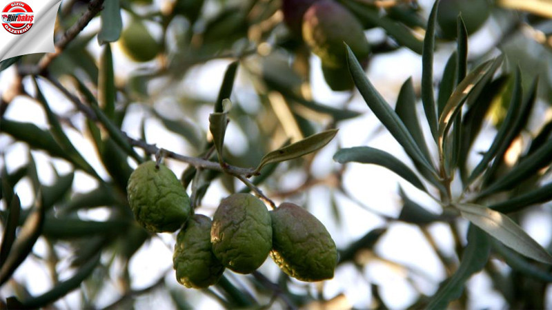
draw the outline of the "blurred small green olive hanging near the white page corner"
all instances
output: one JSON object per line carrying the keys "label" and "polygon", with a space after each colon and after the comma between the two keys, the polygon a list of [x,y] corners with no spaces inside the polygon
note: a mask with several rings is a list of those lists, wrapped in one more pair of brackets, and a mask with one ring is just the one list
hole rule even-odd
{"label": "blurred small green olive hanging near the white page corner", "polygon": [[132,19],[130,24],[121,32],[121,50],[130,59],[138,62],[150,61],[161,51],[161,44],[157,42],[146,25],[138,19]]}

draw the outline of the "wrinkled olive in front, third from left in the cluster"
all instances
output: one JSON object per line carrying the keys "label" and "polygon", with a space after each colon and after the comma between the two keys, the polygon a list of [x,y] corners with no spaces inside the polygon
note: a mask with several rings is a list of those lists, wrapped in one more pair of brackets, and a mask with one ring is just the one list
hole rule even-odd
{"label": "wrinkled olive in front, third from left in the cluster", "polygon": [[272,248],[272,225],[264,203],[251,194],[233,194],[222,200],[213,216],[213,252],[237,273],[259,268]]}

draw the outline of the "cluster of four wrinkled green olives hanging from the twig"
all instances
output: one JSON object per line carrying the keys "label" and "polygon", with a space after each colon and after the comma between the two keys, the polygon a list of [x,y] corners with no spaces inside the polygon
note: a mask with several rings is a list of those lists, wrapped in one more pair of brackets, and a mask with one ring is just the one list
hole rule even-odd
{"label": "cluster of four wrinkled green olives hanging from the twig", "polygon": [[128,203],[137,222],[152,232],[177,235],[173,267],[190,288],[215,284],[228,268],[251,273],[268,255],[302,281],[333,278],[337,249],[326,227],[293,203],[273,211],[251,194],[223,199],[213,220],[193,214],[175,174],[155,162],[139,165],[128,181]]}

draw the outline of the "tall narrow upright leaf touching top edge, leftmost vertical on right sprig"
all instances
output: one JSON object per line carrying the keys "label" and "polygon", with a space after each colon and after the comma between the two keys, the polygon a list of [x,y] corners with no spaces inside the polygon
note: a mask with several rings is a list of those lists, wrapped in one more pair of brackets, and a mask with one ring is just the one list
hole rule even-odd
{"label": "tall narrow upright leaf touching top edge, leftmost vertical on right sprig", "polygon": [[435,1],[431,13],[429,13],[422,52],[422,103],[424,103],[429,129],[435,140],[437,140],[437,107],[433,95],[433,49],[435,48],[435,18],[438,4],[439,1]]}

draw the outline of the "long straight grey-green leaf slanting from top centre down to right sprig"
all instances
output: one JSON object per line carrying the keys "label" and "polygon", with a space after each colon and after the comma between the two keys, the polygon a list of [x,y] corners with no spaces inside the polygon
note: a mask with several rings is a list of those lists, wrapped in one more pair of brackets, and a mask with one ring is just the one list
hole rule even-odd
{"label": "long straight grey-green leaf slanting from top centre down to right sprig", "polygon": [[366,79],[366,74],[364,70],[362,70],[362,66],[358,63],[357,58],[348,46],[347,60],[349,70],[351,70],[351,76],[353,76],[353,81],[355,81],[355,85],[357,85],[368,107],[370,107],[375,116],[382,122],[387,130],[389,130],[395,140],[404,147],[406,154],[408,154],[413,161],[423,165],[426,169],[435,174],[435,168],[424,158],[423,152],[415,143],[414,138],[411,136],[410,132],[408,132],[408,129],[404,123],[402,123],[399,116],[397,116],[397,113],[395,113],[382,98],[382,95],[377,92],[372,83]]}

